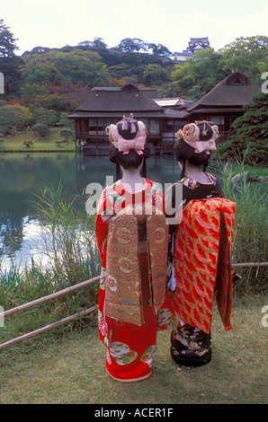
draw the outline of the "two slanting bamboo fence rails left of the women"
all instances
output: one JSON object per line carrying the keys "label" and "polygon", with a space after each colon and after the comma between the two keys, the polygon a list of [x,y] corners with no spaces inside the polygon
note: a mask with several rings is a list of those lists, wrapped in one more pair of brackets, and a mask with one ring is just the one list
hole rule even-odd
{"label": "two slanting bamboo fence rails left of the women", "polygon": [[[13,313],[16,313],[16,312],[21,312],[25,309],[31,308],[32,306],[39,304],[39,303],[48,302],[50,299],[54,299],[55,297],[58,297],[60,295],[66,295],[67,293],[73,292],[74,290],[76,290],[78,288],[81,288],[81,287],[87,286],[91,283],[94,283],[94,281],[97,281],[99,279],[100,279],[100,276],[90,278],[89,280],[85,280],[82,283],[78,283],[75,286],[67,287],[64,290],[59,290],[58,292],[52,293],[51,295],[40,297],[40,299],[37,299],[35,301],[29,302],[29,303],[24,303],[20,306],[13,308],[13,309],[10,309],[8,311],[1,312],[0,313],[0,320],[4,317],[8,316],[8,315],[12,315]],[[67,324],[67,322],[69,322],[69,321],[73,321],[78,317],[81,317],[81,316],[87,315],[88,313],[94,312],[97,308],[98,308],[98,305],[95,304],[94,306],[86,309],[85,311],[77,312],[74,315],[71,315],[67,318],[64,318],[63,320],[53,322],[52,324],[47,325],[46,327],[42,327],[39,330],[31,331],[31,332],[28,332],[27,334],[23,334],[20,337],[13,338],[12,340],[6,341],[5,343],[0,345],[0,350],[4,350],[4,348],[6,348],[6,347],[13,346],[17,343],[20,343],[20,342],[28,339],[28,338],[38,336],[39,334],[42,334],[42,333],[47,332],[49,330],[53,330],[53,329],[59,327],[60,325]]]}

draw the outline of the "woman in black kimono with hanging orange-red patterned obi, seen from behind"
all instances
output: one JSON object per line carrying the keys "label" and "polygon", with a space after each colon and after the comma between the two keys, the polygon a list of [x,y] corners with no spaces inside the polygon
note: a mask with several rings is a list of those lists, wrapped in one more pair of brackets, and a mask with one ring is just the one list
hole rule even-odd
{"label": "woman in black kimono with hanging orange-red patterned obi, seen from behind", "polygon": [[180,323],[172,330],[170,351],[176,363],[199,366],[211,359],[215,293],[225,329],[231,329],[230,242],[236,205],[223,198],[219,180],[203,171],[210,151],[216,149],[218,127],[207,121],[195,122],[176,136],[174,154],[182,174],[166,195],[166,207],[174,204],[176,188],[181,185],[181,208],[169,215],[174,220],[169,226],[168,252],[169,286]]}

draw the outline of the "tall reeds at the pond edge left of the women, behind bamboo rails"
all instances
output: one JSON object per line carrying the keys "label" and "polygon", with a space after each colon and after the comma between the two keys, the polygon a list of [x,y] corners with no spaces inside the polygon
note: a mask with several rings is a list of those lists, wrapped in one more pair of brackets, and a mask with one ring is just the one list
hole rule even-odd
{"label": "tall reeds at the pond edge left of the women, behind bamboo rails", "polygon": [[[45,260],[38,262],[31,259],[31,265],[24,268],[12,265],[9,270],[0,269],[0,305],[4,311],[100,274],[94,218],[82,212],[81,205],[83,199],[77,195],[72,199],[63,197],[61,182],[56,188],[41,186],[37,190],[35,206],[41,242],[36,248]],[[95,283],[7,317],[4,328],[0,330],[0,342],[93,306],[97,302],[97,287]],[[95,325],[94,315],[73,321],[67,327],[56,329],[55,333],[61,335],[75,327],[80,330],[85,324]]]}

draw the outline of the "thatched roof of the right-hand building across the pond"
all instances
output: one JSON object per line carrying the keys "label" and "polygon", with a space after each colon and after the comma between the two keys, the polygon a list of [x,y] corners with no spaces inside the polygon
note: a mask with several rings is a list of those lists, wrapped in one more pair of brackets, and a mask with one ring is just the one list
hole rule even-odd
{"label": "thatched roof of the right-hand building across the pond", "polygon": [[187,111],[192,112],[203,108],[243,108],[252,101],[252,97],[261,89],[252,84],[246,75],[236,72],[228,75],[200,100],[192,103]]}

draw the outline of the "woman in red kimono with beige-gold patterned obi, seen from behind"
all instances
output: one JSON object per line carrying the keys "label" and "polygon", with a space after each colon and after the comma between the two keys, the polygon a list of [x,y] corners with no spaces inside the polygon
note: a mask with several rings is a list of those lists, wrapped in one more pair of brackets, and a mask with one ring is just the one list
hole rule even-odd
{"label": "woman in red kimono with beige-gold patterned obi, seen from behind", "polygon": [[178,323],[165,277],[168,225],[161,189],[140,175],[147,157],[145,125],[130,115],[107,129],[110,159],[123,176],[103,189],[96,218],[99,334],[108,374],[135,382],[151,374],[156,330]]}

